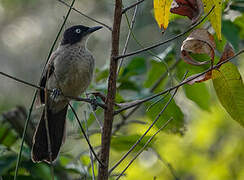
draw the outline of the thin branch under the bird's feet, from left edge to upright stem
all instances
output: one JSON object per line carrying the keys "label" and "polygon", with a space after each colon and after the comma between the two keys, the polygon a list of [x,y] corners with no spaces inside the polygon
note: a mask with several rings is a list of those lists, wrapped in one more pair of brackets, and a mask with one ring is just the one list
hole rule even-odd
{"label": "thin branch under the bird's feet, from left edge to upright stem", "polygon": [[[10,79],[13,79],[13,80],[15,80],[15,81],[18,81],[18,82],[20,82],[20,83],[23,83],[23,84],[25,84],[25,85],[28,85],[28,86],[30,86],[30,87],[34,87],[34,88],[39,89],[39,90],[45,90],[44,87],[37,86],[37,85],[35,85],[35,84],[29,83],[29,82],[24,81],[24,80],[19,79],[19,78],[16,78],[16,77],[11,76],[11,75],[9,75],[9,74],[6,74],[6,73],[4,73],[4,72],[0,72],[0,74],[3,75],[3,76],[5,76],[5,77],[8,77],[8,78],[10,78]],[[47,89],[47,91],[48,91],[48,92],[52,92],[51,89]],[[63,94],[61,94],[61,95],[64,96],[64,97],[66,97],[66,98],[68,98],[69,100],[82,101],[82,102],[87,102],[87,103],[89,103],[89,104],[94,104],[94,103],[95,103],[95,105],[98,105],[98,106],[100,106],[100,107],[103,108],[103,109],[106,109],[106,106],[105,106],[104,104],[99,103],[99,102],[94,102],[92,99],[89,99],[89,98],[73,97],[73,96],[68,96],[68,95],[63,95]]]}

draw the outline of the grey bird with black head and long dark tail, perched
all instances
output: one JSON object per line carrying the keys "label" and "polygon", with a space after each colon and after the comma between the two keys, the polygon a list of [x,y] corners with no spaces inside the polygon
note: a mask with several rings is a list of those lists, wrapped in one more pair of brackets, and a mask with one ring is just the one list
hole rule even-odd
{"label": "grey bird with black head and long dark tail, perched", "polygon": [[79,96],[91,83],[95,60],[86,44],[89,35],[101,28],[74,25],[66,29],[47,62],[39,84],[42,89],[38,94],[39,101],[45,105],[31,150],[31,159],[35,163],[44,161],[50,164],[57,159],[65,140],[65,119],[69,104],[66,97]]}

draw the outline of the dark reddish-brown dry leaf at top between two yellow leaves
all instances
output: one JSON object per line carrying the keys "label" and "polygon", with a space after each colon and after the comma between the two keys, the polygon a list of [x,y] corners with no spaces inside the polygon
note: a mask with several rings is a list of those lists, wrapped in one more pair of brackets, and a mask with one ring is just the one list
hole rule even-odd
{"label": "dark reddish-brown dry leaf at top between two yellow leaves", "polygon": [[187,16],[194,24],[203,13],[203,3],[201,0],[174,0],[170,12]]}

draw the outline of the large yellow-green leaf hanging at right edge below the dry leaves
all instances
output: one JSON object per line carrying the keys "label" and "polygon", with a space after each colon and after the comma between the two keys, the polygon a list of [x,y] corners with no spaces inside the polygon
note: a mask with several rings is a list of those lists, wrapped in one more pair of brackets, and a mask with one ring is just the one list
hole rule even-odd
{"label": "large yellow-green leaf hanging at right edge below the dry leaves", "polygon": [[222,106],[244,127],[244,85],[237,67],[226,63],[214,70],[213,85]]}

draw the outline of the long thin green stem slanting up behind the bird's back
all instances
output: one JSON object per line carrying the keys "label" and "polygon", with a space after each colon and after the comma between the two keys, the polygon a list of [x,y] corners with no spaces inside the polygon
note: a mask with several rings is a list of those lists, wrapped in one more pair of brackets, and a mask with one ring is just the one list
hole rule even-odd
{"label": "long thin green stem slanting up behind the bird's back", "polygon": [[[72,1],[71,5],[70,5],[70,8],[69,8],[69,10],[68,10],[68,12],[67,12],[67,14],[66,14],[66,16],[65,16],[65,19],[64,19],[64,21],[63,21],[63,24],[62,24],[62,26],[60,27],[59,32],[57,33],[57,36],[56,36],[56,38],[55,38],[55,40],[54,40],[54,42],[53,42],[53,44],[52,44],[51,49],[49,50],[48,57],[47,57],[46,62],[45,62],[45,66],[46,66],[46,64],[47,64],[47,62],[48,62],[48,60],[49,60],[49,58],[51,57],[51,54],[52,54],[52,52],[53,52],[53,49],[54,49],[54,47],[55,47],[55,45],[56,45],[56,42],[58,41],[58,38],[59,38],[59,36],[60,36],[60,34],[61,34],[61,32],[62,32],[62,29],[64,28],[64,25],[65,25],[65,23],[66,23],[66,21],[67,21],[69,15],[70,15],[70,12],[71,12],[71,9],[72,9],[74,3],[75,3],[75,0]],[[44,73],[45,66],[44,66],[44,68],[42,69],[42,75],[43,75],[43,73]],[[31,106],[30,106],[30,111],[29,111],[29,113],[28,113],[28,117],[27,117],[27,119],[26,119],[25,128],[24,128],[24,132],[23,132],[23,136],[22,136],[22,141],[21,141],[21,147],[20,147],[20,151],[19,151],[19,154],[18,154],[18,159],[17,159],[16,168],[15,168],[15,173],[14,173],[14,180],[17,180],[18,170],[19,170],[19,163],[20,163],[21,154],[22,154],[22,149],[23,149],[23,145],[24,145],[24,138],[25,138],[25,134],[26,134],[26,129],[27,129],[28,124],[29,124],[29,121],[30,121],[30,116],[31,116],[31,113],[32,113],[32,109],[33,109],[33,106],[34,106],[36,97],[37,97],[37,93],[38,93],[38,91],[36,90],[35,93],[34,93],[33,99],[32,99],[32,103],[31,103]]]}

